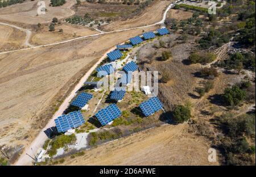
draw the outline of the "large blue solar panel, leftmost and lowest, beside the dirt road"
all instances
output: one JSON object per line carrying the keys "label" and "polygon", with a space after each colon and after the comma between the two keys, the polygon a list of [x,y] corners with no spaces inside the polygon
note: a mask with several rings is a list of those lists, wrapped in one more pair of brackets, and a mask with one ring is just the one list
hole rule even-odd
{"label": "large blue solar panel, leftmost and lowest, beside the dirt road", "polygon": [[54,120],[57,131],[67,132],[67,130],[71,128],[79,127],[80,125],[85,123],[84,117],[80,111],[73,111],[68,113],[67,115],[61,115]]}

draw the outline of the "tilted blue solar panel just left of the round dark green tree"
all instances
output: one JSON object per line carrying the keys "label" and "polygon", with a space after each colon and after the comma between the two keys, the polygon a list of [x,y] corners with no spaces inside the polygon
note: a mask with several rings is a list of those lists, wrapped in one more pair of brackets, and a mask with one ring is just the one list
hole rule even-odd
{"label": "tilted blue solar panel just left of the round dark green tree", "polygon": [[142,102],[139,107],[142,109],[143,114],[147,117],[154,114],[156,111],[159,111],[163,107],[163,104],[155,96],[146,100],[145,102]]}

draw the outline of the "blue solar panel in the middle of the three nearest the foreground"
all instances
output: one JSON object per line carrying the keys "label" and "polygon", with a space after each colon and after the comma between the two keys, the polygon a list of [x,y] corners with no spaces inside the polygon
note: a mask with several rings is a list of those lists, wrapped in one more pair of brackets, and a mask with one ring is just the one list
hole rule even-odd
{"label": "blue solar panel in the middle of the three nearest the foreground", "polygon": [[98,111],[95,116],[97,117],[98,121],[100,121],[101,125],[104,126],[114,119],[117,119],[117,117],[121,116],[121,114],[122,112],[116,104],[110,104],[104,109]]}

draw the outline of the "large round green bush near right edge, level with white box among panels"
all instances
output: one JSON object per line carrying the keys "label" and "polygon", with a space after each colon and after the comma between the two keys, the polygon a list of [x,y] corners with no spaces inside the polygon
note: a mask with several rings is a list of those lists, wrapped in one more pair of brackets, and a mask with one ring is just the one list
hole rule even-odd
{"label": "large round green bush near right edge, level with white box among panels", "polygon": [[231,88],[226,88],[222,95],[224,102],[229,106],[237,106],[245,99],[245,97],[246,92],[241,90],[237,85],[234,85]]}

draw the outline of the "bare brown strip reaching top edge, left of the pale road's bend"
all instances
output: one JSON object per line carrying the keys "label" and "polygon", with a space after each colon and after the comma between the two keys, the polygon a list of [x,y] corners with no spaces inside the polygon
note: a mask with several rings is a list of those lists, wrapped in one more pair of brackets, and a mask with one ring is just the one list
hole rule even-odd
{"label": "bare brown strip reaching top edge, left of the pale road's bend", "polygon": [[142,15],[135,16],[134,18],[125,21],[117,20],[106,26],[102,26],[102,29],[104,31],[113,31],[116,29],[134,28],[154,24],[162,20],[163,13],[171,2],[172,1],[155,1],[150,7],[143,11]]}

